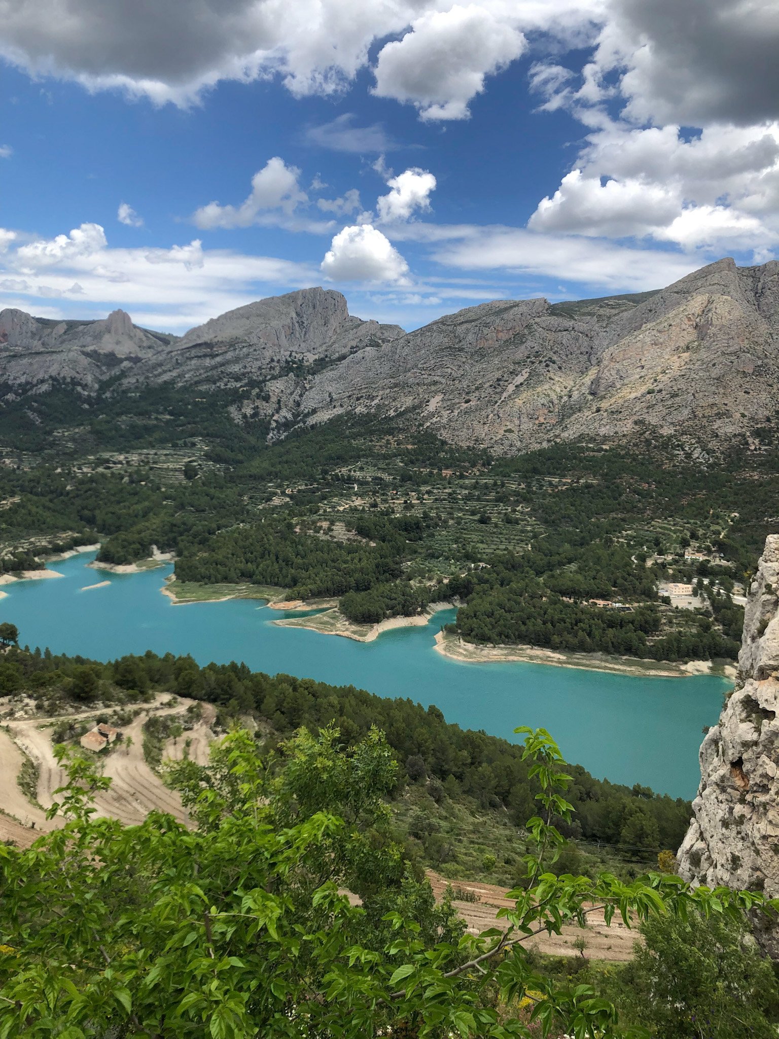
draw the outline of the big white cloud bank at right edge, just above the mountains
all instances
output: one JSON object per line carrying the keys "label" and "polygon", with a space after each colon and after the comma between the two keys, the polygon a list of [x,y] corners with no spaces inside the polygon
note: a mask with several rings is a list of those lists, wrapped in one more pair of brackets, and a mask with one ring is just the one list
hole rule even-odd
{"label": "big white cloud bank at right edge, just above the mountains", "polygon": [[534,231],[715,251],[779,241],[779,123],[686,136],[606,118],[586,140],[576,168],[538,204]]}

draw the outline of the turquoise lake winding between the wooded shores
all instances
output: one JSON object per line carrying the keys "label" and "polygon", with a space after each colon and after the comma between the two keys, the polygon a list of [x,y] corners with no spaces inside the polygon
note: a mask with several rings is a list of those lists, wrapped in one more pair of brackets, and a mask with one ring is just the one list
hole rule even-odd
{"label": "turquoise lake winding between the wooded shores", "polygon": [[[541,664],[471,664],[433,648],[454,611],[425,628],[396,629],[374,642],[278,628],[280,616],[249,600],[174,606],[161,593],[171,567],[135,575],[87,568],[82,554],[51,568],[62,578],[5,586],[0,620],[20,642],[53,652],[111,660],[146,649],[191,654],[199,664],[243,661],[381,696],[435,703],[448,721],[515,739],[515,725],[543,725],[570,762],[598,778],[640,782],[693,797],[703,725],[717,721],[724,678],[630,677]],[[88,591],[85,585],[108,580]]]}

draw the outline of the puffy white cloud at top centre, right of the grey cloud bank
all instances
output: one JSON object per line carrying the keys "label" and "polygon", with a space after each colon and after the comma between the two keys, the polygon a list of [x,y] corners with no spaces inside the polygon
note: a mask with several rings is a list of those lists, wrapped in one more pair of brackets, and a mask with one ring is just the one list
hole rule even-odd
{"label": "puffy white cloud at top centre, right of the grey cloud bank", "polygon": [[423,119],[463,119],[484,79],[519,57],[526,38],[486,5],[427,11],[402,39],[385,44],[374,94],[410,102]]}

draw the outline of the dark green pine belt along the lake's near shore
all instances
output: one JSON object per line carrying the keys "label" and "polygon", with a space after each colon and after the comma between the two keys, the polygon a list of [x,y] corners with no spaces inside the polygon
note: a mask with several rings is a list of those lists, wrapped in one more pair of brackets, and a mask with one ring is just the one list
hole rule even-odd
{"label": "dark green pine belt along the lake's near shore", "polygon": [[[464,797],[514,826],[533,812],[538,793],[517,744],[461,729],[435,707],[375,696],[353,686],[271,676],[235,663],[199,667],[191,657],[147,652],[101,664],[11,647],[0,661],[0,695],[25,690],[44,713],[55,712],[63,697],[89,703],[108,695],[120,702],[123,696],[169,691],[218,704],[224,725],[252,715],[275,738],[300,726],[316,730],[334,725],[344,741],[354,742],[378,726],[398,764],[396,797],[423,777],[434,797]],[[650,857],[681,843],[690,821],[689,801],[595,779],[580,766],[571,767],[571,776],[568,797],[576,809],[575,822],[560,823],[568,837],[645,849]]]}

